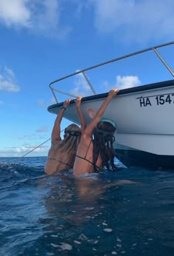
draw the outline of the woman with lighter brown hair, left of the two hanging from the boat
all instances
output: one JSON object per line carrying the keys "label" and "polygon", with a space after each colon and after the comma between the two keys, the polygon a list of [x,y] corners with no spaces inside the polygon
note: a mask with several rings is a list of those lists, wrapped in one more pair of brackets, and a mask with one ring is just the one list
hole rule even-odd
{"label": "woman with lighter brown hair, left of the two hanging from the boat", "polygon": [[64,101],[63,107],[58,113],[55,119],[55,125],[52,129],[52,144],[45,166],[45,172],[48,175],[63,169],[72,169],[77,146],[80,142],[80,135],[86,128],[86,120],[80,108],[81,97],[77,97],[75,103],[81,127],[78,127],[76,124],[70,124],[69,127],[66,127],[64,130],[63,140],[60,138],[60,123],[63,118],[63,113],[66,111],[66,108],[69,107],[70,101],[70,99]]}

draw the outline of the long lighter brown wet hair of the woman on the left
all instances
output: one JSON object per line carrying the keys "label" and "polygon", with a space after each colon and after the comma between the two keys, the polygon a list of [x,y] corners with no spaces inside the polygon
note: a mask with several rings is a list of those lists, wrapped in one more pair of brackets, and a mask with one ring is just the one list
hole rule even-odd
{"label": "long lighter brown wet hair of the woman on the left", "polygon": [[58,141],[55,145],[53,155],[57,155],[60,152],[60,160],[73,167],[80,135],[80,127],[76,124],[70,124],[64,131],[63,140]]}

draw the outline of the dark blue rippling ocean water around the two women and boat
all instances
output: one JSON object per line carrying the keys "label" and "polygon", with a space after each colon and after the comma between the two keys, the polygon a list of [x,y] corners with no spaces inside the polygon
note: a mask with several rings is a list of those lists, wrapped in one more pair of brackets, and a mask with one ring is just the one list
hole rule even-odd
{"label": "dark blue rippling ocean water around the two women and boat", "polygon": [[1,256],[174,255],[174,170],[74,178],[45,162],[0,158]]}

